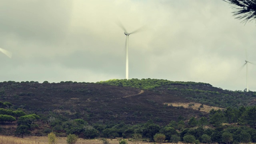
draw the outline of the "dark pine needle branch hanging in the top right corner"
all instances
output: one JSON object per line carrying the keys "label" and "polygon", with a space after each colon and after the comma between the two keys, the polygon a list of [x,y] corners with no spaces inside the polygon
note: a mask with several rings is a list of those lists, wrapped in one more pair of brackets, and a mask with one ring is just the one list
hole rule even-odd
{"label": "dark pine needle branch hanging in the top right corner", "polygon": [[256,2],[255,0],[224,0],[233,5],[235,9],[234,16],[243,19],[242,22],[252,21],[256,19]]}

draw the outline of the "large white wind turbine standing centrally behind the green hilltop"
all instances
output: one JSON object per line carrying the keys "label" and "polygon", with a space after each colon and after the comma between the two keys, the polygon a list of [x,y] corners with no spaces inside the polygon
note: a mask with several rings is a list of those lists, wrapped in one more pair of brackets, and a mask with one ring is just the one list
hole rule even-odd
{"label": "large white wind turbine standing centrally behind the green hilltop", "polygon": [[142,30],[142,27],[137,29],[137,30],[134,30],[133,32],[130,32],[128,33],[126,31],[126,29],[124,28],[124,26],[119,22],[119,26],[120,28],[122,28],[122,30],[124,30],[124,34],[126,35],[126,41],[125,41],[125,45],[126,45],[126,79],[128,80],[129,79],[129,58],[128,58],[128,41],[129,41],[129,35],[130,34],[134,34],[136,32],[139,32]]}

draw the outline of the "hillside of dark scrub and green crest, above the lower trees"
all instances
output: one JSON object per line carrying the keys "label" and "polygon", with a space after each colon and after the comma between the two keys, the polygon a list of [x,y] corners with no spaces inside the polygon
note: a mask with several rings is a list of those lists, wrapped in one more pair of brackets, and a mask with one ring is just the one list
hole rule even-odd
{"label": "hillside of dark scrub and green crest, above the lower trees", "polygon": [[179,116],[190,118],[205,114],[184,109],[186,106],[168,106],[168,103],[197,102],[220,108],[249,106],[254,104],[255,95],[254,92],[222,90],[206,83],[157,79],[0,83],[0,101],[11,102],[13,108],[43,114],[45,119],[56,114],[66,119],[81,118],[89,123],[99,120],[140,123],[152,119],[167,124]]}

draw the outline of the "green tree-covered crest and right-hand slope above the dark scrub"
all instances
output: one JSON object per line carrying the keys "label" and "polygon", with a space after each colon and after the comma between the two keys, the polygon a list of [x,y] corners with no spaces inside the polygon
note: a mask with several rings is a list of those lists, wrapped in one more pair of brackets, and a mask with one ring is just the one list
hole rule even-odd
{"label": "green tree-covered crest and right-hand slope above the dark scrub", "polygon": [[154,92],[172,94],[186,98],[191,102],[197,102],[221,108],[250,106],[256,103],[256,92],[243,92],[240,90],[222,90],[203,82],[172,82],[158,79],[130,79],[108,80],[97,82],[115,86],[128,86]]}

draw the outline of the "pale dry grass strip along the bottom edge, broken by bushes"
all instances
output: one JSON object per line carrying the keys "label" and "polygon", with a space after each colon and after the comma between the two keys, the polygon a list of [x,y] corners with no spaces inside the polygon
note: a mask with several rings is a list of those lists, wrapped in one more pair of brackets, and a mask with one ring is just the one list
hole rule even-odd
{"label": "pale dry grass strip along the bottom edge, broken by bushes", "polygon": [[[119,144],[118,139],[109,139],[110,144]],[[18,138],[14,136],[0,136],[0,144],[48,144],[48,137],[46,136],[26,136],[24,138]],[[57,144],[67,144],[66,138],[58,137]],[[76,144],[102,144],[99,139],[85,140],[79,138]],[[128,141],[128,144],[134,144],[134,142]],[[140,144],[151,144],[149,142],[141,142]]]}

